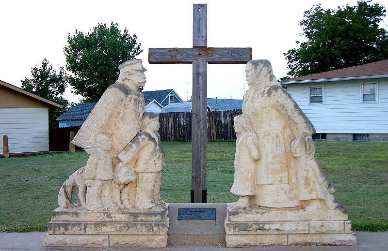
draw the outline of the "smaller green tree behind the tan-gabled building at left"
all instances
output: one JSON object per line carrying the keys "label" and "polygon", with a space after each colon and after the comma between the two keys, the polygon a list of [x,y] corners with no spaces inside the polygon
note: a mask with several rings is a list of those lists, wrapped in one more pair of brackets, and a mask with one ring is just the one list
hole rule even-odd
{"label": "smaller green tree behind the tan-gabled building at left", "polygon": [[38,65],[31,68],[31,74],[32,78],[26,77],[21,81],[22,89],[64,106],[62,109],[49,109],[49,128],[57,128],[56,119],[68,109],[69,105],[69,102],[63,98],[67,86],[65,70],[60,67],[56,74],[56,71],[49,65],[49,61],[43,59],[39,68]]}

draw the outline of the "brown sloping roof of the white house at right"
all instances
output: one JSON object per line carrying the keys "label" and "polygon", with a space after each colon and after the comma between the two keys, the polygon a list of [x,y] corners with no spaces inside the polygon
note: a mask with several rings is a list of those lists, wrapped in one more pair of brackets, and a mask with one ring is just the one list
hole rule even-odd
{"label": "brown sloping roof of the white house at right", "polygon": [[[349,78],[367,78],[367,76],[381,76],[387,77],[388,75],[388,59],[381,60],[373,63],[362,64],[352,67],[347,67],[343,69],[310,74],[302,77],[295,77],[291,79],[285,79],[279,81],[280,84],[288,84],[289,82],[297,81],[314,81],[314,80],[326,80],[338,79],[338,80],[347,80]],[[297,83],[295,83],[297,84]]]}

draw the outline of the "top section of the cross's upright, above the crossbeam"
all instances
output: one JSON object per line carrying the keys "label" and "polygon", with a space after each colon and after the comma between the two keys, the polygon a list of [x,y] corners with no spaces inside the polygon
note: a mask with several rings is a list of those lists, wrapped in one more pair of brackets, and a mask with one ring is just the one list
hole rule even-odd
{"label": "top section of the cross's upright, above the crossbeam", "polygon": [[193,47],[206,47],[208,41],[208,5],[193,4]]}

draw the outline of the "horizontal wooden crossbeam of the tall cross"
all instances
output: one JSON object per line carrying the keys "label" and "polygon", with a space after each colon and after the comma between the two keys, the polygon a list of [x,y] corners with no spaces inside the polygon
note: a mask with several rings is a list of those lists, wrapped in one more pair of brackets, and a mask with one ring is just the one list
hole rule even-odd
{"label": "horizontal wooden crossbeam of the tall cross", "polygon": [[244,64],[252,60],[252,48],[149,48],[151,64],[190,64],[205,61],[210,64]]}

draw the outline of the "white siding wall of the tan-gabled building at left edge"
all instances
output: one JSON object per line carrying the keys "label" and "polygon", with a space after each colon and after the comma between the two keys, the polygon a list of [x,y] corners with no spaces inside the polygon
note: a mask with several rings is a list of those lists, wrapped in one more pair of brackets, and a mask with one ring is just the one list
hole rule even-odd
{"label": "white siding wall of the tan-gabled building at left edge", "polygon": [[4,134],[10,153],[48,151],[49,109],[0,108],[1,154]]}

